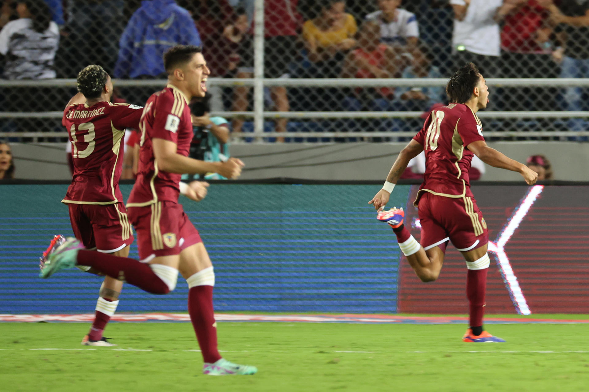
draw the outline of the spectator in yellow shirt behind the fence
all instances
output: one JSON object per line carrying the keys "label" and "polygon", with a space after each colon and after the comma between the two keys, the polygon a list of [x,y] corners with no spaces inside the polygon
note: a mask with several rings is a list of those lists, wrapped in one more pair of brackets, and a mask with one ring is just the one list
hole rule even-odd
{"label": "spectator in yellow shirt behind the fence", "polygon": [[307,57],[315,63],[315,77],[336,78],[345,52],[356,46],[353,37],[358,26],[353,16],[346,14],[344,1],[325,1],[317,8],[319,14],[303,24]]}

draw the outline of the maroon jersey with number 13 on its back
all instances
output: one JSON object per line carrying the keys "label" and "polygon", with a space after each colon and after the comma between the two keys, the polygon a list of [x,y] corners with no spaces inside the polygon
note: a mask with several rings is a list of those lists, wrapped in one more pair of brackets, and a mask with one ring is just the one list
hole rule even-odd
{"label": "maroon jersey with number 13 on its back", "polygon": [[123,202],[118,180],[123,171],[125,128],[137,128],[141,106],[98,102],[70,105],[61,123],[70,132],[74,176],[64,203]]}

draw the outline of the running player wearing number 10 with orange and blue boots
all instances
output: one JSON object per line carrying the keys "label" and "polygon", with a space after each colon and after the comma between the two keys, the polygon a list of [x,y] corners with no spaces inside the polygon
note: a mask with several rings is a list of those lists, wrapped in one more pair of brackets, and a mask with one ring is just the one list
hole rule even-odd
{"label": "running player wearing number 10 with orange and blue boots", "polygon": [[[488,165],[519,172],[528,185],[537,173],[490,148],[482,134],[477,111],[487,107],[488,86],[477,66],[468,63],[446,86],[450,104],[435,109],[425,125],[395,160],[385,185],[369,204],[377,219],[393,228],[401,251],[422,282],[438,279],[448,240],[466,260],[466,297],[469,302],[467,342],[502,342],[482,327],[489,256],[487,223],[478,209],[468,181],[473,154]],[[425,175],[414,205],[421,220],[421,245],[403,225],[405,212],[384,211],[391,192],[409,160],[425,150]]]}

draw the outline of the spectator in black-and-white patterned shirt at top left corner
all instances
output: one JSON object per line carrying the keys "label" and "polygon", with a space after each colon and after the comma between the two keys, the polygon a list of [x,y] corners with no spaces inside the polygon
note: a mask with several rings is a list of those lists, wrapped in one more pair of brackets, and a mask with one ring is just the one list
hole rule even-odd
{"label": "spectator in black-and-white patterned shirt at top left corner", "polygon": [[5,56],[6,79],[55,78],[53,62],[59,45],[59,29],[51,21],[49,8],[42,0],[19,1],[19,19],[8,22],[0,31],[0,53]]}

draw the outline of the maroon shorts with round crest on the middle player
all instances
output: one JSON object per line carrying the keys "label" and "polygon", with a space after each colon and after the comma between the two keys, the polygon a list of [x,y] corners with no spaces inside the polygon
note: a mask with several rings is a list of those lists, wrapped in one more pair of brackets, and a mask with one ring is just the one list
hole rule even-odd
{"label": "maroon shorts with round crest on the middle player", "polygon": [[129,207],[129,219],[137,232],[139,258],[180,254],[188,246],[202,242],[182,205],[157,202],[144,207]]}

